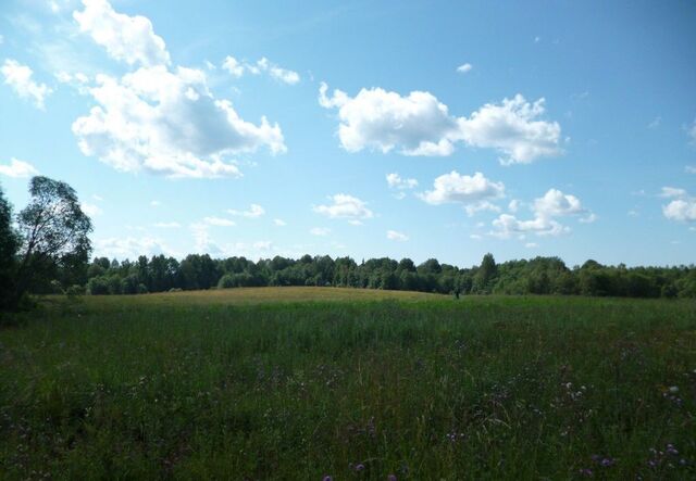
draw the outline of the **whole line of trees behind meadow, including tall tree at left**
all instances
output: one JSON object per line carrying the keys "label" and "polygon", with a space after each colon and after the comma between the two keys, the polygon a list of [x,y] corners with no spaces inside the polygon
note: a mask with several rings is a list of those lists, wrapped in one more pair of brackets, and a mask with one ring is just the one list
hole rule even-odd
{"label": "whole line of trees behind meadow, including tall tree at left", "polygon": [[0,189],[0,311],[14,309],[33,294],[138,294],[172,290],[265,286],[322,286],[436,292],[443,294],[564,294],[629,298],[696,298],[696,267],[606,266],[587,261],[568,267],[558,257],[481,264],[460,268],[430,258],[370,258],[304,255],[253,262],[190,254],[96,257],[92,230],[75,191],[37,176],[30,200],[17,215]]}

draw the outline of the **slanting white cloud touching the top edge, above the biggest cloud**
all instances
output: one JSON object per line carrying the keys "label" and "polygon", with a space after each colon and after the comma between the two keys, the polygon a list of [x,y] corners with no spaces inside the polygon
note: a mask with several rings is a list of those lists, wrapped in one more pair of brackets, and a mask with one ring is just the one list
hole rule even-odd
{"label": "slanting white cloud touching the top edge, above the biggest cloud", "polygon": [[83,33],[89,34],[115,60],[128,65],[169,65],[164,40],[154,34],[149,18],[117,13],[107,0],[83,0],[85,10],[73,12]]}

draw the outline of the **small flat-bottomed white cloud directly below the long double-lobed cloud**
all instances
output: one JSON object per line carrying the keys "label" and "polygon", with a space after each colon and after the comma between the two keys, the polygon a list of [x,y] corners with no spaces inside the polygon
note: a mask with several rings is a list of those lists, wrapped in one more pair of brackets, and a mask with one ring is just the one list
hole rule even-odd
{"label": "small flat-bottomed white cloud directly below the long double-lobed cloud", "polygon": [[505,197],[505,186],[502,182],[488,180],[480,172],[473,176],[467,176],[452,170],[437,177],[433,183],[433,190],[419,197],[432,205],[451,202],[473,205]]}

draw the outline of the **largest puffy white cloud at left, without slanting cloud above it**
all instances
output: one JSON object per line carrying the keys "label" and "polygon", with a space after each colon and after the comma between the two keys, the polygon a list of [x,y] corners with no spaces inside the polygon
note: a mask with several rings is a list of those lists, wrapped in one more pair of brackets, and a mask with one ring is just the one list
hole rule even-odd
{"label": "largest puffy white cloud at left, without slanting cloud above it", "polygon": [[229,101],[213,97],[199,69],[141,67],[120,80],[98,75],[89,93],[98,105],[73,123],[73,132],[85,155],[119,170],[237,177],[229,155],[261,147],[286,151],[277,124],[244,121]]}

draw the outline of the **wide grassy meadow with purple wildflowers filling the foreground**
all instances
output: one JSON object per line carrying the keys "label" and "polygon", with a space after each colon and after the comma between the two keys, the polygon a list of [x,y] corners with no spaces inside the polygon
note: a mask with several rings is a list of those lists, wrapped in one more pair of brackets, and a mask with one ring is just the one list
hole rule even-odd
{"label": "wide grassy meadow with purple wildflowers filling the foreground", "polygon": [[696,303],[239,289],[0,329],[7,479],[696,478]]}

